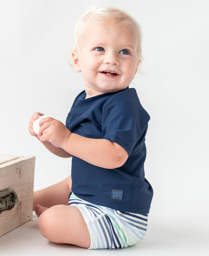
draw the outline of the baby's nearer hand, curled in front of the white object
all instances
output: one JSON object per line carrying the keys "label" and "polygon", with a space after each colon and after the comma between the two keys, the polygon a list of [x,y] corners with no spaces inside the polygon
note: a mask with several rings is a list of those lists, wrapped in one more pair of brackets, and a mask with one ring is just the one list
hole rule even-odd
{"label": "baby's nearer hand, curled in front of the white object", "polygon": [[41,142],[48,141],[55,147],[62,147],[64,141],[68,140],[71,132],[67,127],[52,117],[46,117],[39,121],[38,138]]}

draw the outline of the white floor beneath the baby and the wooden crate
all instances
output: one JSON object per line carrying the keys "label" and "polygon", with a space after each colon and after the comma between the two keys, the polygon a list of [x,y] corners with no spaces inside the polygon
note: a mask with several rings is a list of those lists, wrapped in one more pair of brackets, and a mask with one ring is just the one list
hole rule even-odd
{"label": "white floor beneath the baby and the wooden crate", "polygon": [[[208,226],[201,225],[201,219],[191,225],[183,222],[164,221],[150,216],[145,239],[124,249],[88,250],[71,245],[57,245],[47,241],[39,232],[38,218],[0,237],[0,255],[209,255]],[[196,223],[196,224],[195,224]]]}

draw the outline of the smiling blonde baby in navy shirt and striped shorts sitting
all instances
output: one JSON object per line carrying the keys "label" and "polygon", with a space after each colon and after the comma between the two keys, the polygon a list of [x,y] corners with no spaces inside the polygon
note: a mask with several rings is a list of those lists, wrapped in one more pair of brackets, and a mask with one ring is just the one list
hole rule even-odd
{"label": "smiling blonde baby in navy shirt and striped shorts sitting", "polygon": [[59,244],[123,248],[146,233],[152,186],[145,178],[149,115],[129,88],[141,61],[141,31],[124,10],[92,7],[75,29],[73,64],[84,91],[66,125],[45,117],[38,135],[55,155],[72,157],[71,176],[34,192],[40,232]]}

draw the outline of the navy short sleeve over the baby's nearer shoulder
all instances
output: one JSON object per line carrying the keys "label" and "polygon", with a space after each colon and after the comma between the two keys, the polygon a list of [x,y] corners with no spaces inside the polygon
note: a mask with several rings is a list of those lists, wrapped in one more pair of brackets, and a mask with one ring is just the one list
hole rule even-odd
{"label": "navy short sleeve over the baby's nearer shoulder", "polygon": [[130,156],[134,146],[147,129],[149,119],[135,89],[115,94],[103,107],[103,139],[118,143]]}

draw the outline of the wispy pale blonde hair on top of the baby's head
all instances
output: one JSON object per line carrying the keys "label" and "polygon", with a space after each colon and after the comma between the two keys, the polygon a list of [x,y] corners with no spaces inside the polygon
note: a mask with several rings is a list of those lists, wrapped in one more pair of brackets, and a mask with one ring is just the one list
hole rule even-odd
{"label": "wispy pale blonde hair on top of the baby's head", "polygon": [[141,27],[139,23],[129,15],[125,10],[115,7],[88,7],[85,12],[80,16],[79,20],[76,23],[75,34],[74,34],[74,51],[79,52],[80,42],[85,28],[88,24],[92,22],[105,22],[105,21],[114,20],[116,25],[123,25],[127,29],[133,31],[137,35],[137,54],[139,61],[142,60],[141,52]]}

